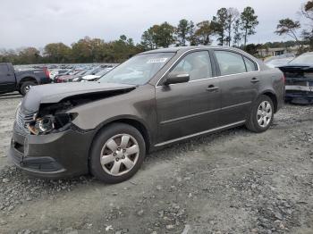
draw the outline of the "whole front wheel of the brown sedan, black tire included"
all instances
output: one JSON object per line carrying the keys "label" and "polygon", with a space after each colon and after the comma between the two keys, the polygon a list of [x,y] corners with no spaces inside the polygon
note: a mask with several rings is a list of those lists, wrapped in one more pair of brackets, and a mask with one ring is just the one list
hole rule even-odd
{"label": "whole front wheel of the brown sedan, black tire included", "polygon": [[140,169],[145,155],[140,131],[128,124],[113,123],[97,133],[90,150],[89,171],[103,182],[120,183]]}

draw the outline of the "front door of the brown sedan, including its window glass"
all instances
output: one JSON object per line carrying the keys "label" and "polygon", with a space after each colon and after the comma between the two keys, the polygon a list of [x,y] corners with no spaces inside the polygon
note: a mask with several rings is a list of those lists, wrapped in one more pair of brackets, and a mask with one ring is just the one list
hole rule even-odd
{"label": "front door of the brown sedan, including its window glass", "polygon": [[218,121],[220,90],[208,51],[186,54],[171,71],[189,73],[190,81],[157,86],[158,145],[213,129]]}

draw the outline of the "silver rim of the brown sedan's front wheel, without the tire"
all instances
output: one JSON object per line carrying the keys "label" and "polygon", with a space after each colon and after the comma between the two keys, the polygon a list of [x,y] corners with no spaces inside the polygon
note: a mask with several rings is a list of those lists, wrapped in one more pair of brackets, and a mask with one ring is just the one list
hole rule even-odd
{"label": "silver rim of the brown sedan's front wheel, without the tire", "polygon": [[100,153],[100,163],[106,173],[121,176],[135,166],[140,155],[140,147],[129,134],[118,134],[106,141]]}

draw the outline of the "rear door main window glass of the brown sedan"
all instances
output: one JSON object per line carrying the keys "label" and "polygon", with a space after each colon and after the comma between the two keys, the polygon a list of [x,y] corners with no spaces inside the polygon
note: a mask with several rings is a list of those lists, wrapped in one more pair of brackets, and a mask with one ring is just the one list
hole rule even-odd
{"label": "rear door main window glass of the brown sedan", "polygon": [[215,52],[221,75],[232,75],[246,72],[241,54],[218,50]]}

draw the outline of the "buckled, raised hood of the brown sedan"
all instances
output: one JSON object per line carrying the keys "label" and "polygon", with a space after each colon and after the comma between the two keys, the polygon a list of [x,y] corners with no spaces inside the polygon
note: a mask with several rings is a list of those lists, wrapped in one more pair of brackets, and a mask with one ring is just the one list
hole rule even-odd
{"label": "buckled, raised hood of the brown sedan", "polygon": [[35,113],[40,104],[58,103],[64,98],[80,95],[106,94],[110,91],[125,90],[131,91],[136,88],[134,85],[123,85],[100,82],[71,82],[60,84],[49,84],[34,86],[30,88],[28,94],[23,98],[21,110],[24,113]]}

